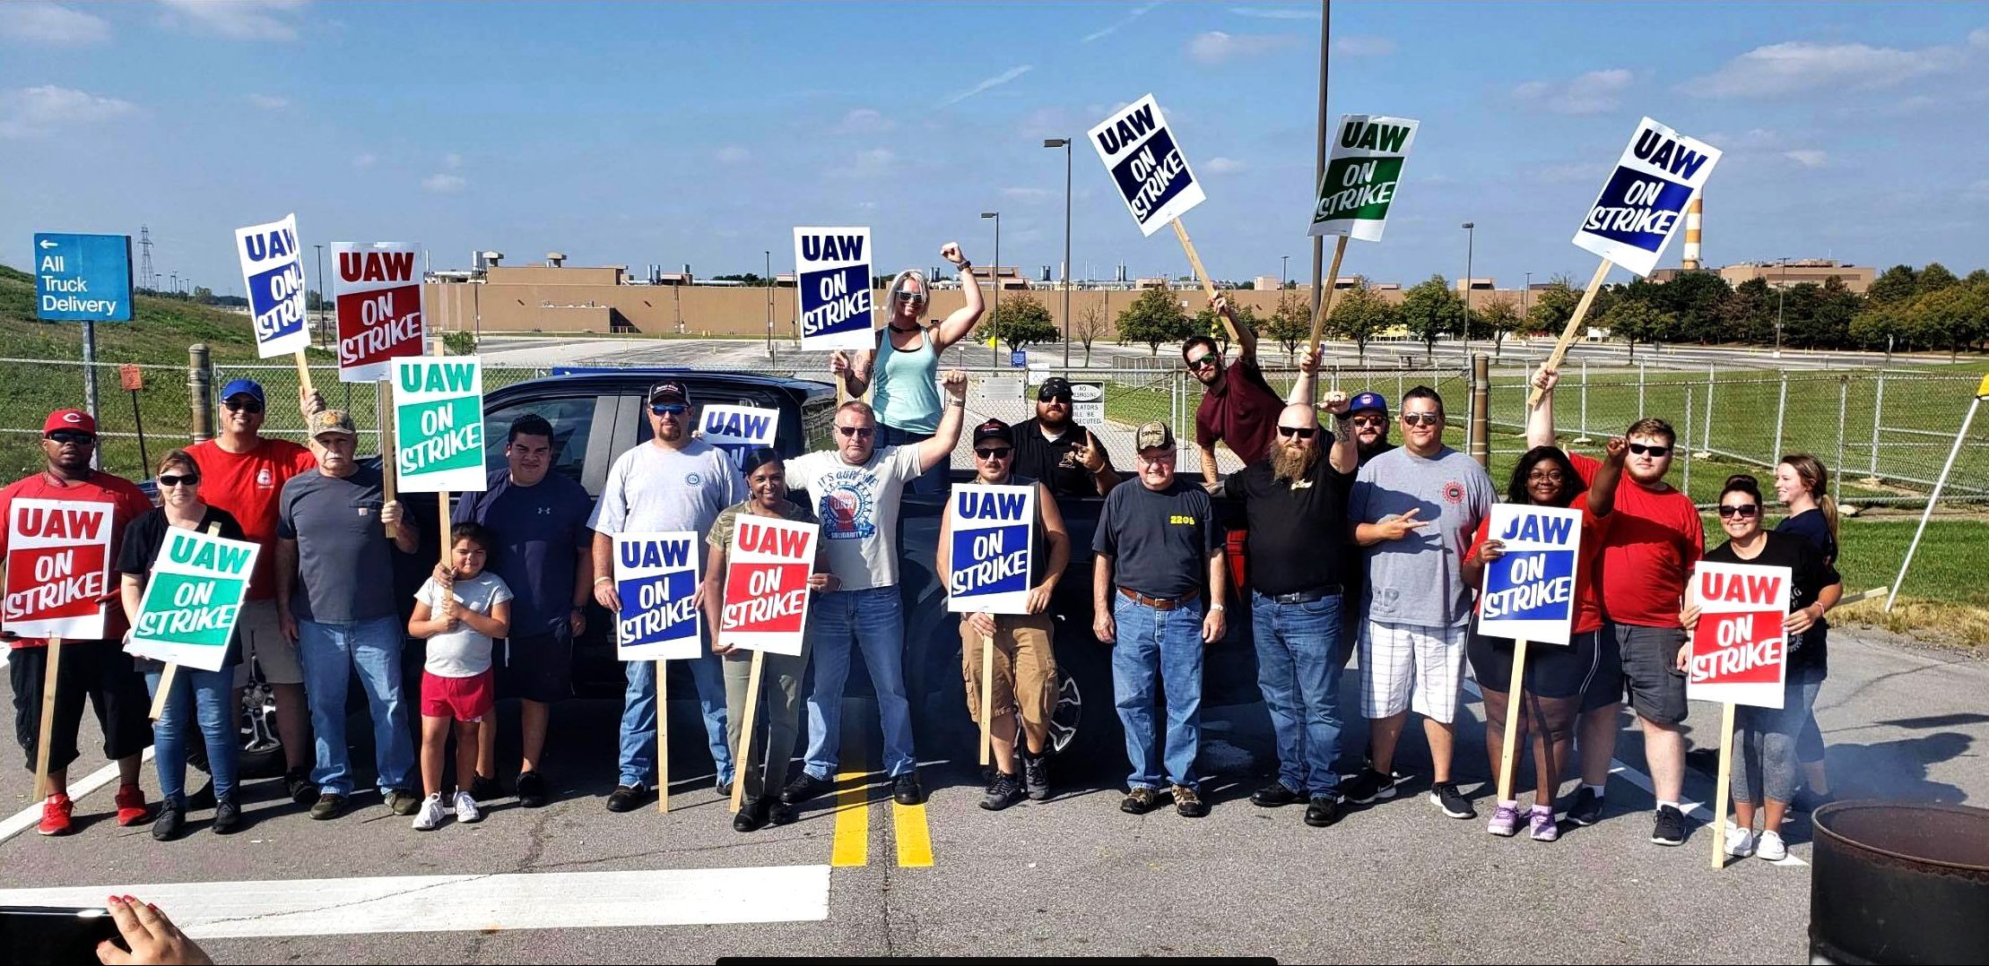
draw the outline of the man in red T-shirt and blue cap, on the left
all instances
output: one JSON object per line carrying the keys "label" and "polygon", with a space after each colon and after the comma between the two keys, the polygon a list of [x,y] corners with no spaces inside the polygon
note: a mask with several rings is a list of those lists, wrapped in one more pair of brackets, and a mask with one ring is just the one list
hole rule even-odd
{"label": "man in red T-shirt and blue cap, on the left", "polygon": [[[304,700],[304,664],[296,642],[282,634],[276,618],[276,497],[282,485],[298,473],[318,467],[318,457],[288,439],[263,435],[263,386],[255,380],[235,380],[221,388],[221,435],[187,447],[201,469],[201,499],[235,515],[243,533],[263,547],[249,578],[237,632],[243,642],[243,662],[235,666],[235,702],[249,684],[251,660],[263,668],[263,680],[276,692],[276,737],[282,739],[284,791],[290,801],[308,805],[318,799],[310,783],[312,743],[310,708]],[[322,409],[322,402],[304,400],[304,411]]]}

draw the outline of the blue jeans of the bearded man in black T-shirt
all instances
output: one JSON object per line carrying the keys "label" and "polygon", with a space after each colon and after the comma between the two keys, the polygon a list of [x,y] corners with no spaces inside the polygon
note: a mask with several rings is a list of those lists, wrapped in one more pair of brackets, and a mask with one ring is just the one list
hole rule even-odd
{"label": "blue jeans of the bearded man in black T-shirt", "polygon": [[1339,795],[1341,596],[1279,604],[1251,594],[1257,688],[1277,733],[1277,781],[1291,791]]}

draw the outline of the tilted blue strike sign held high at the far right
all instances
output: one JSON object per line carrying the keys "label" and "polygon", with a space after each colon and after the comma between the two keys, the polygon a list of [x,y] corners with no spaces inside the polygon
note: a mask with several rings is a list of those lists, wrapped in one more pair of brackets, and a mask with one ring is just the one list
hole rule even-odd
{"label": "tilted blue strike sign held high at the far right", "polygon": [[1645,117],[1581,219],[1575,244],[1639,276],[1651,274],[1718,161],[1718,147]]}

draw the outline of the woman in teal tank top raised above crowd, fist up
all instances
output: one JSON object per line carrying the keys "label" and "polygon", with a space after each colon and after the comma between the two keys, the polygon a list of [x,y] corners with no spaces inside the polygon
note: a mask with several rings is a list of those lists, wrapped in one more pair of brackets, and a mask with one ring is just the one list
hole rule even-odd
{"label": "woman in teal tank top raised above crowd, fist up", "polygon": [[[891,280],[885,292],[885,328],[877,334],[875,352],[849,354],[835,350],[829,354],[829,372],[843,380],[849,398],[871,392],[871,405],[877,409],[877,447],[905,445],[931,439],[939,431],[939,358],[947,348],[967,338],[981,320],[981,282],[975,280],[975,266],[961,254],[961,246],[947,242],[939,256],[953,262],[961,276],[961,292],[967,304],[957,308],[945,322],[925,326],[925,306],[931,284],[925,272],[907,268]],[[1000,284],[1000,278],[994,280]],[[913,481],[913,493],[941,493],[947,489],[947,465],[937,465]]]}

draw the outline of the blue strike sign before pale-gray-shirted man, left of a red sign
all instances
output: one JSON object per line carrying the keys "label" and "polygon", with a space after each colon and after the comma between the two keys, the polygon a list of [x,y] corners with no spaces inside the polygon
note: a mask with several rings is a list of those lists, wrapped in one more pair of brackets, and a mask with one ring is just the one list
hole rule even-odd
{"label": "blue strike sign before pale-gray-shirted man, left of a red sign", "polygon": [[696,533],[615,535],[615,660],[678,660],[704,654]]}

